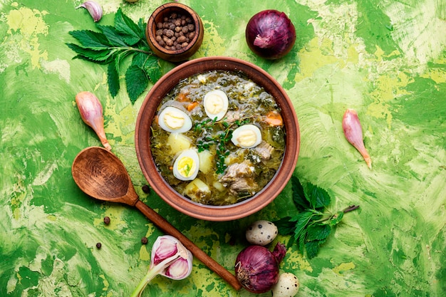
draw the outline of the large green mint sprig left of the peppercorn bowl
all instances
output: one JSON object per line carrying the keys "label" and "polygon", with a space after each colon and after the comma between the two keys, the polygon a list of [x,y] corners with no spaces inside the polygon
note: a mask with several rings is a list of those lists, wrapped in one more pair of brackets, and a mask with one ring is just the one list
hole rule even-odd
{"label": "large green mint sprig left of the peppercorn bowl", "polygon": [[69,32],[80,44],[67,43],[67,46],[77,54],[74,58],[108,65],[108,90],[113,97],[120,90],[120,65],[125,58],[133,56],[125,71],[125,85],[130,101],[135,103],[149,81],[155,83],[161,78],[160,61],[147,44],[146,24],[142,19],[136,24],[118,9],[114,21],[114,26],[96,25],[100,32]]}

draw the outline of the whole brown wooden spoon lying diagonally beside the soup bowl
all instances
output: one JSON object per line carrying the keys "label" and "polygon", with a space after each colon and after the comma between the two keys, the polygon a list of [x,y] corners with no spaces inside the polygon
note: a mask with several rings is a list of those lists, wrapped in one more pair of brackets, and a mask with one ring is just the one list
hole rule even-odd
{"label": "whole brown wooden spoon lying diagonally beside the soup bowl", "polygon": [[120,202],[138,208],[153,224],[166,234],[176,237],[197,259],[224,278],[237,291],[242,288],[232,273],[199,249],[160,214],[141,202],[123,162],[113,155],[113,152],[103,147],[87,147],[74,159],[71,173],[85,194],[95,199]]}

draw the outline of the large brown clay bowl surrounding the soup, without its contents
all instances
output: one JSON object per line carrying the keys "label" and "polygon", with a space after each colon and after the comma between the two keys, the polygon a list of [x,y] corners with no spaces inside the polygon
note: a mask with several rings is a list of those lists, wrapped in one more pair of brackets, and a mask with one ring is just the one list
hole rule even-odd
{"label": "large brown clay bowl surrounding the soup, without its contents", "polygon": [[[266,184],[266,187],[255,194],[254,197],[227,206],[199,204],[192,202],[191,199],[176,192],[175,189],[165,182],[165,179],[158,172],[150,150],[150,125],[152,125],[152,120],[157,113],[157,106],[160,104],[162,98],[164,98],[165,95],[180,82],[180,80],[197,73],[213,70],[242,71],[242,73],[246,74],[255,83],[263,86],[264,89],[276,99],[276,103],[279,104],[286,128],[286,149],[284,152],[284,159],[281,162],[279,170],[269,184]],[[294,172],[299,155],[299,123],[288,95],[286,95],[281,85],[263,69],[237,58],[197,58],[182,63],[180,66],[177,66],[172,69],[172,71],[162,76],[147,94],[140,108],[135,127],[135,147],[138,155],[138,162],[140,163],[145,178],[152,189],[154,189],[155,192],[167,202],[167,204],[178,211],[197,219],[217,222],[230,221],[247,217],[250,214],[254,214],[254,212],[258,212],[273,201],[281,190],[284,189],[286,183],[291,178],[291,174]]]}

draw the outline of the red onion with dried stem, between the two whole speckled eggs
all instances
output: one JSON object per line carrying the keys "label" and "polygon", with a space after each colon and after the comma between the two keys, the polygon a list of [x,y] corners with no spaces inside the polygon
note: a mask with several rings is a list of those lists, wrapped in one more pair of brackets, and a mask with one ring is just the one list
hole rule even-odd
{"label": "red onion with dried stem, between the two whole speckled eggs", "polygon": [[264,293],[279,280],[279,263],[284,259],[286,248],[277,243],[271,253],[264,246],[248,246],[235,261],[235,276],[247,291]]}

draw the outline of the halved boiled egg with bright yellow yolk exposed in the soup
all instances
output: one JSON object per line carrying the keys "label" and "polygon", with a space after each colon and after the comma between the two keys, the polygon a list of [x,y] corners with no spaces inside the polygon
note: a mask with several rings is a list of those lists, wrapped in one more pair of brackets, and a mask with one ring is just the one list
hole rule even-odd
{"label": "halved boiled egg with bright yellow yolk exposed in the soup", "polygon": [[198,153],[194,149],[183,150],[173,164],[173,175],[180,180],[192,180],[199,169]]}

